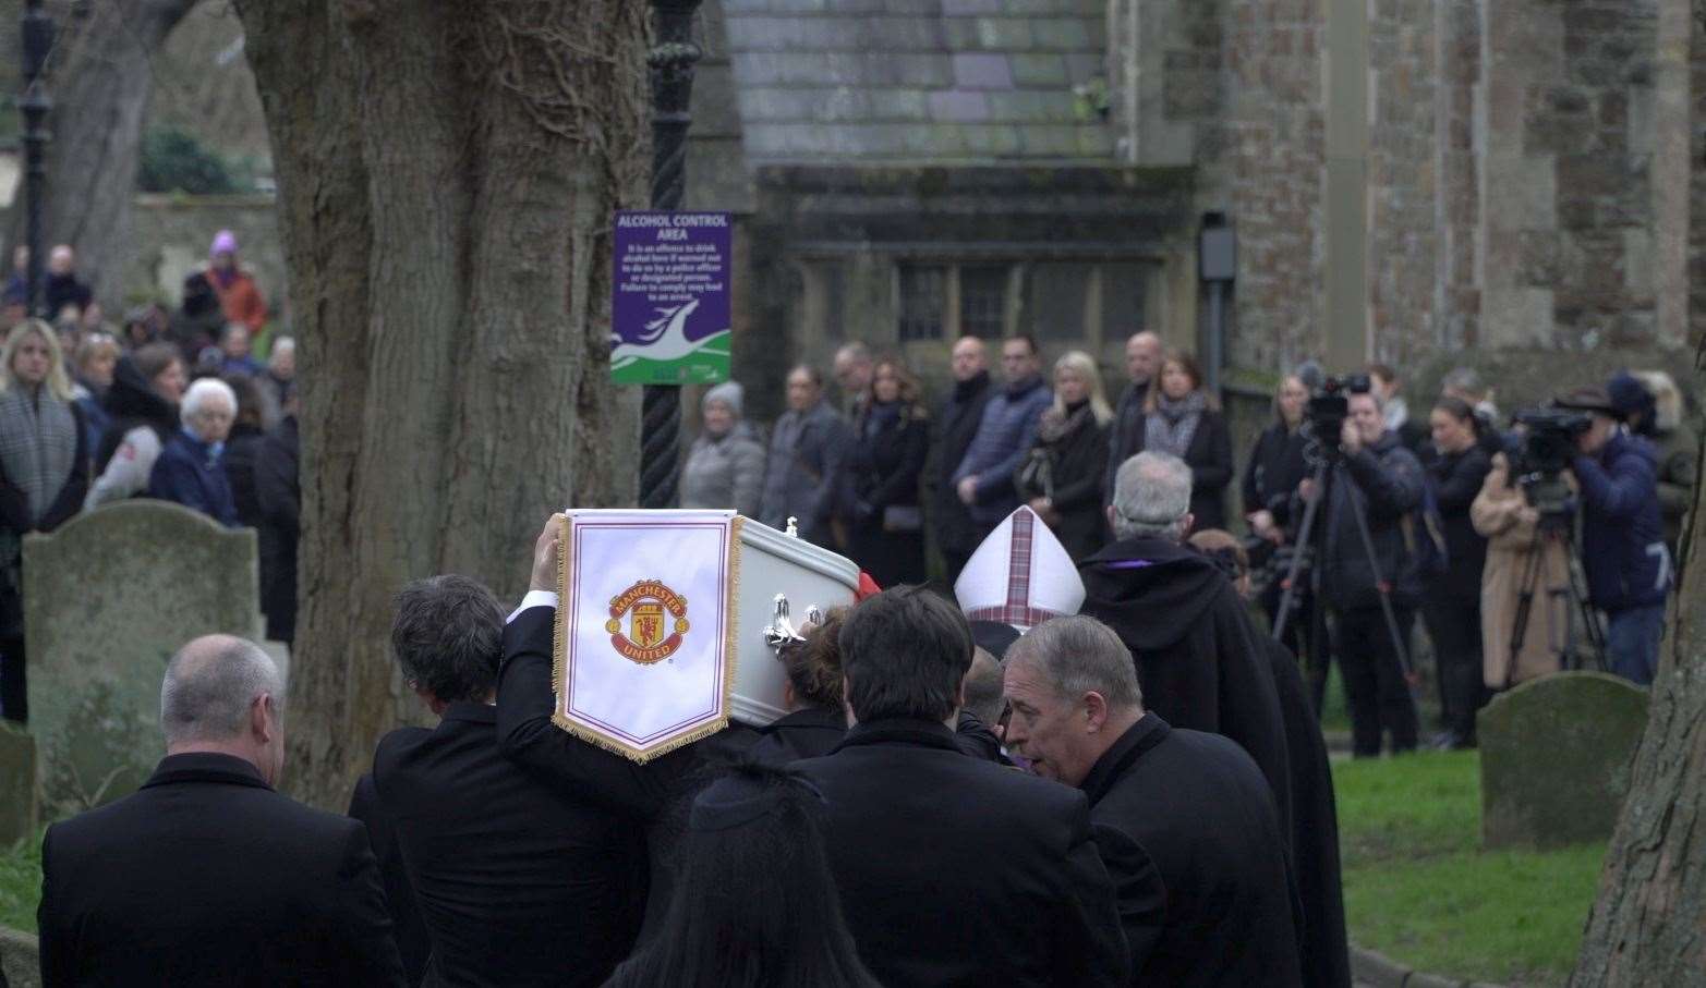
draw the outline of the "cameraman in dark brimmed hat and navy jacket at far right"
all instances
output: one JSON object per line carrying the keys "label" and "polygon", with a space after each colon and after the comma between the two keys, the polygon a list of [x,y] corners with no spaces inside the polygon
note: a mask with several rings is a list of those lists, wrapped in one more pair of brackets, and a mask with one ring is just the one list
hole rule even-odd
{"label": "cameraman in dark brimmed hat and navy jacket at far right", "polygon": [[1658,455],[1651,443],[1619,426],[1617,409],[1602,388],[1580,388],[1554,404],[1593,419],[1576,439],[1581,455],[1571,468],[1581,487],[1588,600],[1605,612],[1605,658],[1610,671],[1650,685],[1672,583],[1658,511]]}

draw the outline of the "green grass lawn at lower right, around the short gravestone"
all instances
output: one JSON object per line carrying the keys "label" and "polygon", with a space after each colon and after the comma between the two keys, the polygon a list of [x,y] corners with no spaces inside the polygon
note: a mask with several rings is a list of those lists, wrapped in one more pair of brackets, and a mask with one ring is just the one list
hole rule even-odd
{"label": "green grass lawn at lower right, around the short gravestone", "polygon": [[1351,940],[1419,971],[1563,985],[1605,845],[1481,848],[1481,760],[1423,753],[1332,767]]}

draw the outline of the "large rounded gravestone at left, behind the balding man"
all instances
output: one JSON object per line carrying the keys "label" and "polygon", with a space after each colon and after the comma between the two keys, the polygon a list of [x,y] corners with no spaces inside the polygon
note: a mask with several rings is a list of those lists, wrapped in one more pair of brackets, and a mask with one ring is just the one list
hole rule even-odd
{"label": "large rounded gravestone at left, behind the balding man", "polygon": [[29,729],[48,819],[135,792],[165,753],[160,678],[179,646],[259,639],[254,531],[125,501],[24,538]]}

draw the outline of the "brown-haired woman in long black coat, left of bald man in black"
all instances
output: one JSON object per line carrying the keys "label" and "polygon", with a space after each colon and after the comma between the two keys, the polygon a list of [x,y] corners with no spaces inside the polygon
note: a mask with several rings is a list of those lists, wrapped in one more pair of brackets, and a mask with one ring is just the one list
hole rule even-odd
{"label": "brown-haired woman in long black coat, left of bald man in black", "polygon": [[920,477],[930,453],[930,412],[899,359],[872,368],[844,463],[848,554],[877,586],[925,581]]}

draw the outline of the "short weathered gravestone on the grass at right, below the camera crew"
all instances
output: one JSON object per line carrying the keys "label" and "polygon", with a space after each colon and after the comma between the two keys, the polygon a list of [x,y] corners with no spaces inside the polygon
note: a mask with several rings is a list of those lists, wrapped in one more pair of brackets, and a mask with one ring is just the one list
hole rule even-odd
{"label": "short weathered gravestone on the grass at right, below the camera crew", "polygon": [[1558,673],[1498,697],[1481,738],[1481,847],[1607,840],[1629,792],[1648,693],[1605,673]]}

